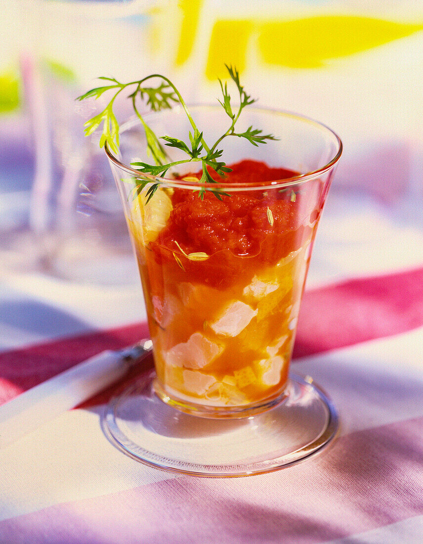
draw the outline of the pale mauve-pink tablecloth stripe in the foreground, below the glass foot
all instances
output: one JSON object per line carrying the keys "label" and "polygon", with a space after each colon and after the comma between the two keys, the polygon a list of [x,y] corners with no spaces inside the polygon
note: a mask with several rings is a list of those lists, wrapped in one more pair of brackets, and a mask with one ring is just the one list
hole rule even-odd
{"label": "pale mauve-pink tablecloth stripe in the foreground, below the glass foot", "polygon": [[289,471],[170,478],[51,506],[0,522],[0,541],[306,544],[362,533],[423,513],[422,434],[420,417],[343,436]]}

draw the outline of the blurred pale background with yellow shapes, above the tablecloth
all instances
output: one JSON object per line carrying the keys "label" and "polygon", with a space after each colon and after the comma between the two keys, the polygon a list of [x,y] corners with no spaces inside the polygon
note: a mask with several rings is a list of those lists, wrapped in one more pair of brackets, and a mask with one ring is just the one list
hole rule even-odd
{"label": "blurred pale background with yellow shapes, above the tablecloth", "polygon": [[74,99],[98,76],[159,72],[210,103],[224,63],[259,106],[343,140],[310,285],[423,261],[420,0],[8,0],[0,24],[1,270],[138,282],[98,134],[83,134],[99,104]]}

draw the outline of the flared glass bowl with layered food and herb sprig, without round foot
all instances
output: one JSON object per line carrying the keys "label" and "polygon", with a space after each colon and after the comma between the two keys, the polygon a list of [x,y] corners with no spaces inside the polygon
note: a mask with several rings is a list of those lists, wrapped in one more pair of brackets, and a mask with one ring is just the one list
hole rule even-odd
{"label": "flared glass bowl with layered food and herb sprig, without round foot", "polygon": [[[144,288],[155,392],[210,417],[264,410],[284,397],[310,251],[340,152],[339,139],[319,123],[242,112],[254,100],[237,70],[228,72],[238,111],[222,82],[223,108],[188,108],[169,79],[157,75],[129,84],[103,78],[108,86],[82,97],[115,92],[86,131],[103,122],[101,145],[107,144]],[[158,87],[145,86],[157,77]],[[124,131],[128,153],[118,147],[112,107],[135,84],[129,96],[138,121]],[[135,101],[146,96],[153,110],[167,111],[142,117]],[[179,105],[171,109],[173,102]],[[172,136],[157,137],[163,133]]]}

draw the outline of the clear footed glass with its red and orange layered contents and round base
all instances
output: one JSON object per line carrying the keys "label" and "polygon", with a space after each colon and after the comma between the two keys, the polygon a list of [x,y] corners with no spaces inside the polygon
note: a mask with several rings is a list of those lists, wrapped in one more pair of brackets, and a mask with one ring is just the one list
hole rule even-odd
{"label": "clear footed glass with its red and orange layered contents and round base", "polygon": [[[190,113],[208,142],[227,124],[219,107]],[[104,428],[141,462],[202,476],[289,466],[320,451],[338,428],[327,394],[309,376],[290,373],[290,360],[341,141],[293,113],[251,108],[241,119],[240,132],[259,127],[277,139],[252,146],[226,138],[222,160],[240,174],[232,182],[202,185],[201,163],[192,162],[164,177],[142,174],[133,163],[151,157],[136,119],[122,127],[119,153],[106,146],[140,271],[155,370],[111,401]],[[145,120],[159,136],[186,141],[192,131],[181,107]],[[172,161],[183,158],[169,149]]]}

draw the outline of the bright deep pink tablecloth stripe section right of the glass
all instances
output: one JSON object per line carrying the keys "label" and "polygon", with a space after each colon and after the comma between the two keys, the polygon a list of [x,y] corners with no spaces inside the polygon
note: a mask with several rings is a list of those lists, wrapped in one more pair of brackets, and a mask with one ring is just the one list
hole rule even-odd
{"label": "bright deep pink tablecloth stripe section right of the glass", "polygon": [[344,348],[423,325],[423,268],[304,293],[294,357]]}

